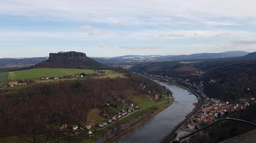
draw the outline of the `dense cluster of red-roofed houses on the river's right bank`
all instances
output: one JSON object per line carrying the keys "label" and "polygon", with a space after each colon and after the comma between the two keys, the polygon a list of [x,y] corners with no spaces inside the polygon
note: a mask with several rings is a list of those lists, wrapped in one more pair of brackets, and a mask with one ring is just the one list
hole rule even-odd
{"label": "dense cluster of red-roofed houses on the river's right bank", "polygon": [[[205,94],[202,94],[202,96],[204,97],[203,106],[190,118],[187,126],[182,127],[178,132],[176,139],[200,129],[201,127],[212,124],[218,119],[232,118],[239,111],[244,110],[246,106],[256,103],[255,98],[230,103],[219,99],[210,99]],[[207,135],[207,132],[202,133]],[[184,139],[182,142],[189,142],[189,138]]]}

